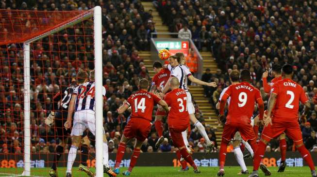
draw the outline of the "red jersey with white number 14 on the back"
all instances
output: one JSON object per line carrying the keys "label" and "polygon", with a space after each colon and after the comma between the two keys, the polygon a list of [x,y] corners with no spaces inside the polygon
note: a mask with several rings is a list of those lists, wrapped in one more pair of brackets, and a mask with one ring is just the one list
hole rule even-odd
{"label": "red jersey with white number 14 on the back", "polygon": [[132,108],[131,118],[144,118],[152,121],[153,107],[160,100],[156,95],[142,89],[132,94],[126,104]]}

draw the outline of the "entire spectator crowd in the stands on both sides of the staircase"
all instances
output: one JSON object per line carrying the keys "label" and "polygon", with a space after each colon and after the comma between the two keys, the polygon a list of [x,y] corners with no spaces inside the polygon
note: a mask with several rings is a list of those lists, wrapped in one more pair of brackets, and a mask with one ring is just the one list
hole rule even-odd
{"label": "entire spectator crowd in the stands on both sides of the staircase", "polygon": [[[263,72],[269,71],[273,64],[292,64],[294,80],[303,86],[312,104],[307,122],[300,125],[304,143],[306,148],[317,150],[317,1],[153,0],[153,4],[171,32],[179,32],[179,37],[189,36],[200,51],[212,52],[218,69],[215,74],[206,69],[201,79],[218,83],[215,89],[205,88],[205,96],[213,105],[222,89],[230,85],[228,73],[234,69],[250,70],[252,84],[260,89],[267,103]],[[117,108],[137,90],[139,78],[151,79],[139,51],[149,50],[150,34],[156,32],[152,11],[145,12],[139,0],[0,0],[1,9],[12,10],[88,10],[96,5],[102,7],[103,85],[107,90],[104,128],[109,152],[116,152],[130,115],[117,114]],[[31,44],[33,153],[53,152],[59,143],[54,126],[46,126],[43,121],[53,109],[54,94],[74,83],[78,70],[94,68],[92,25],[85,20]],[[0,30],[3,30],[1,25]],[[24,116],[21,44],[1,46],[0,60],[0,152],[21,153]],[[268,80],[271,78],[269,75]],[[197,118],[203,122],[199,107],[195,107]],[[216,141],[214,130],[209,126],[205,129]],[[164,136],[163,145],[156,149],[158,137],[152,126],[142,151],[173,151],[166,124]],[[204,139],[197,130],[192,129],[189,142],[195,151],[204,151]],[[293,142],[287,143],[288,150],[293,150]],[[133,142],[126,150],[130,152],[132,148]],[[267,151],[279,151],[278,140],[271,141]],[[90,152],[94,152],[93,146]]]}

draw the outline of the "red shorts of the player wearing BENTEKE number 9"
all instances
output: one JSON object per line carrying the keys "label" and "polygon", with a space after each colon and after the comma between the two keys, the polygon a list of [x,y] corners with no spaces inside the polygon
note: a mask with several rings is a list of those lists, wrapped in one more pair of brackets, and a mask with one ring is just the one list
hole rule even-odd
{"label": "red shorts of the player wearing BENTEKE number 9", "polygon": [[253,140],[255,138],[252,125],[250,123],[230,122],[225,124],[223,129],[222,138],[226,141],[231,141],[234,134],[240,132],[244,141]]}

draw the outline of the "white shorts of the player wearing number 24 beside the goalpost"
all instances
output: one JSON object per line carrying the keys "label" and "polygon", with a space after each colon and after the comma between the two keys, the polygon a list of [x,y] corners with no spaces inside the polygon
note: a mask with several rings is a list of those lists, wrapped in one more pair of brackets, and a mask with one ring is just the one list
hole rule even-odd
{"label": "white shorts of the player wearing number 24 beside the goalpost", "polygon": [[[95,111],[93,110],[82,110],[77,111],[74,114],[73,128],[71,129],[70,135],[81,136],[83,131],[86,129],[95,135],[96,132],[96,118]],[[102,128],[104,133],[104,129]]]}

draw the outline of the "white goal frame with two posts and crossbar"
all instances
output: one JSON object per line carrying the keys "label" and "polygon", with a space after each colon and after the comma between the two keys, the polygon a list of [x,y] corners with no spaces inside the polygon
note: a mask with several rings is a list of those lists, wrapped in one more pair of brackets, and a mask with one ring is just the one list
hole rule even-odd
{"label": "white goal frame with two posts and crossbar", "polygon": [[24,52],[24,171],[22,176],[31,176],[31,129],[30,129],[30,107],[31,107],[31,73],[30,73],[30,43],[54,34],[67,27],[73,26],[87,18],[94,18],[94,56],[95,56],[95,99],[96,99],[96,177],[103,177],[103,153],[102,153],[102,27],[101,7],[96,6],[85,15],[64,24],[56,29],[36,36],[23,43]]}

